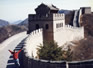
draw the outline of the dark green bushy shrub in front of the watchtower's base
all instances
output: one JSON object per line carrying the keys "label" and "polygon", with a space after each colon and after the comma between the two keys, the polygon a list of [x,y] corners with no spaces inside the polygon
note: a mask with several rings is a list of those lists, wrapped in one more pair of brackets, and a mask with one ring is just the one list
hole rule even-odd
{"label": "dark green bushy shrub in front of the watchtower's base", "polygon": [[44,46],[40,45],[37,48],[37,55],[39,59],[44,60],[71,60],[70,49],[63,50],[62,47],[58,47],[55,42],[44,42]]}

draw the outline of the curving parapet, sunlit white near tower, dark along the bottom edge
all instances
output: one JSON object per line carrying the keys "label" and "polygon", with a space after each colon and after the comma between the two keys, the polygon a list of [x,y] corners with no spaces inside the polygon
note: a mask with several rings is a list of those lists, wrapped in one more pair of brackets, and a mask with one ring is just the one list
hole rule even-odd
{"label": "curving parapet, sunlit white near tower, dark along the bottom edge", "polygon": [[37,59],[38,45],[43,44],[42,29],[31,32],[24,41],[23,67],[24,68],[85,68],[93,67],[93,60],[85,61],[49,61]]}

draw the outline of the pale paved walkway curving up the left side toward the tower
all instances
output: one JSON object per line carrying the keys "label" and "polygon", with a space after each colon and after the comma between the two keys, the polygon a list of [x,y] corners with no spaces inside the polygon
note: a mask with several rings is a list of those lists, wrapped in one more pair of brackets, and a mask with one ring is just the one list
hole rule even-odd
{"label": "pale paved walkway curving up the left side toward the tower", "polygon": [[[16,34],[0,44],[0,68],[14,68],[12,55],[8,50],[19,50],[23,46],[21,42],[27,37],[26,32]],[[20,55],[20,54],[19,54]],[[22,57],[22,56],[21,56]]]}

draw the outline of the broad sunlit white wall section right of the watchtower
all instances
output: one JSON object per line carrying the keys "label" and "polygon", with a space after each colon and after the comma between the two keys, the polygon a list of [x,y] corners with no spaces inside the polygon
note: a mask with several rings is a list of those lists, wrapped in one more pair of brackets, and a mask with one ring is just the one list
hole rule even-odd
{"label": "broad sunlit white wall section right of the watchtower", "polygon": [[80,40],[82,38],[84,38],[84,27],[78,28],[67,25],[54,32],[54,40],[59,46],[62,46],[68,41]]}

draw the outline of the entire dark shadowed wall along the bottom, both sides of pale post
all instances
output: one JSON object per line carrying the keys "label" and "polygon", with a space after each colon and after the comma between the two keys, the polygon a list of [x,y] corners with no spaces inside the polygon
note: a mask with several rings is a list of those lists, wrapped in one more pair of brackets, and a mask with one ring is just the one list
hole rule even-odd
{"label": "entire dark shadowed wall along the bottom, both sides of pale post", "polygon": [[24,68],[93,68],[93,59],[85,61],[49,61],[24,55]]}

